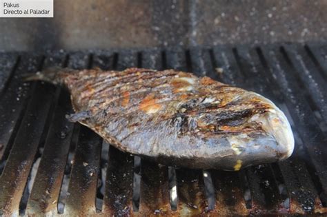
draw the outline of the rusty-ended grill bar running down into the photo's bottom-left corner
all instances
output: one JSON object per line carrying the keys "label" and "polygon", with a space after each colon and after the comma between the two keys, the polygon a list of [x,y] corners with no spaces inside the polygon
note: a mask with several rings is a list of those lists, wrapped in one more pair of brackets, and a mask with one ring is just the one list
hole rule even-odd
{"label": "rusty-ended grill bar running down into the photo's bottom-left corner", "polygon": [[55,87],[51,85],[41,83],[34,85],[34,94],[28,103],[26,115],[23,117],[0,179],[0,207],[3,207],[5,215],[19,214],[19,202],[39,146],[54,91]]}

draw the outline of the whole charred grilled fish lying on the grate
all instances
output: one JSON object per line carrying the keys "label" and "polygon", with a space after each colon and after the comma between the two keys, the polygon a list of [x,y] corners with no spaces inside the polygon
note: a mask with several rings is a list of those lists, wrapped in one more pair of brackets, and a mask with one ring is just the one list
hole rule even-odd
{"label": "whole charred grilled fish lying on the grate", "polygon": [[72,121],[161,164],[237,171],[284,160],[294,149],[290,124],[273,102],[208,77],[139,68],[38,76],[68,87]]}

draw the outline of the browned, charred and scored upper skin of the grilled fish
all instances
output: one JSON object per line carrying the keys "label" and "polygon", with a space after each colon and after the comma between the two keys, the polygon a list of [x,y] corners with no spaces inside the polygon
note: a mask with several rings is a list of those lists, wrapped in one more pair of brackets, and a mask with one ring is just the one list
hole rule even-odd
{"label": "browned, charred and scored upper skin of the grilled fish", "polygon": [[[81,73],[84,74],[85,72]],[[106,122],[106,124],[139,111],[146,114],[156,114],[161,110],[166,110],[164,111],[166,113],[159,114],[162,117],[157,119],[159,121],[176,119],[173,122],[177,121],[179,134],[197,133],[199,131],[228,134],[242,130],[248,132],[261,130],[255,124],[247,123],[244,125],[248,118],[255,114],[255,110],[248,108],[224,112],[221,109],[225,107],[226,110],[228,107],[234,106],[235,101],[237,101],[235,96],[239,96],[243,90],[230,89],[208,77],[197,79],[191,74],[177,73],[171,70],[157,74],[149,70],[130,70],[123,72],[121,76],[118,76],[119,73],[116,72],[99,73],[99,71],[95,71],[92,73],[95,75],[94,81],[90,79],[92,76],[88,76],[86,85],[83,83],[85,81],[79,82],[80,85],[78,86],[81,87],[78,88],[81,90],[79,101],[80,103],[87,101],[85,104],[88,103],[88,107],[93,107],[94,116],[113,115],[114,117],[110,118],[110,122]],[[97,74],[101,74],[101,79],[97,77]],[[146,82],[153,83],[151,81],[154,80],[156,81],[155,85],[152,84],[152,87],[144,88]],[[201,85],[204,85],[202,94],[192,92],[195,87],[201,87]],[[212,86],[210,92],[205,87],[206,85]],[[226,94],[226,90],[229,90],[229,94]],[[186,92],[192,92],[192,94],[187,95]],[[108,94],[110,94],[109,97]],[[224,97],[219,97],[219,94]],[[112,110],[110,107],[117,107],[117,109]],[[117,115],[121,112],[119,107],[126,112]],[[175,115],[176,112],[181,112],[181,114]],[[153,118],[148,117],[144,121],[153,121]],[[122,126],[128,127],[128,125]]]}

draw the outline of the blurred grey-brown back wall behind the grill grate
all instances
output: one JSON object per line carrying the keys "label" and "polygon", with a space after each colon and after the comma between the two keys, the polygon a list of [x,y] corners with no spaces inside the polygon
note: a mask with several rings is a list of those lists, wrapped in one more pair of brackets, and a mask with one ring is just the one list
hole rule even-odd
{"label": "blurred grey-brown back wall behind the grill grate", "polygon": [[326,41],[327,1],[54,0],[54,18],[0,18],[0,50]]}

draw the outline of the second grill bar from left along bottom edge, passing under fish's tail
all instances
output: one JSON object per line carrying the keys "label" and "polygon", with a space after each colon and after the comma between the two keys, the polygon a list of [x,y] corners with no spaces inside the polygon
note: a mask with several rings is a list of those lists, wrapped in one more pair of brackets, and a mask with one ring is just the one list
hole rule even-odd
{"label": "second grill bar from left along bottom edge, passing under fish's tail", "polygon": [[[52,66],[61,66],[65,61],[65,55],[59,54],[49,59],[52,59]],[[59,91],[58,104],[50,121],[39,169],[28,200],[27,215],[57,214],[57,201],[73,128],[73,124],[65,118],[67,112],[72,112],[69,94],[63,90]]]}

